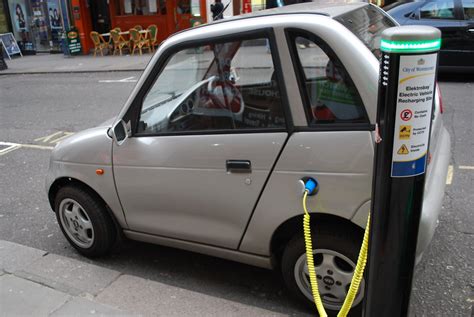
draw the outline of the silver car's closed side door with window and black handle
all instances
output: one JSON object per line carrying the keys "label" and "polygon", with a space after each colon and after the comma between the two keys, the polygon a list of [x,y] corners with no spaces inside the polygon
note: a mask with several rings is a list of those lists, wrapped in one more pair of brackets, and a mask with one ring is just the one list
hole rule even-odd
{"label": "silver car's closed side door with window and black handle", "polygon": [[265,31],[160,57],[133,136],[113,147],[130,230],[237,248],[287,139],[268,43]]}

